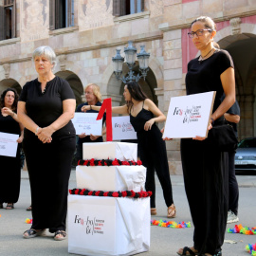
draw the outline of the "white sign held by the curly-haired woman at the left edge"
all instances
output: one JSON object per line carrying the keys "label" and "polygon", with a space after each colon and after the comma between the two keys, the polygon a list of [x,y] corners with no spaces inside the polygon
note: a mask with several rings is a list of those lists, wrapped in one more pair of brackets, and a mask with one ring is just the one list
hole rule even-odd
{"label": "white sign held by the curly-haired woman at the left edge", "polygon": [[16,157],[19,135],[0,133],[0,155]]}

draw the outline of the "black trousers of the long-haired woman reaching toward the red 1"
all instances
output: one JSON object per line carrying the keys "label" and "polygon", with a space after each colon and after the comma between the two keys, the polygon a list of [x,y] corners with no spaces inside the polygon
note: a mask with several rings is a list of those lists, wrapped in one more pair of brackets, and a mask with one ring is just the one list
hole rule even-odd
{"label": "black trousers of the long-haired woman reaching toward the red 1", "polygon": [[146,191],[151,191],[151,208],[155,208],[155,173],[163,190],[167,207],[174,203],[171,177],[169,173],[168,158],[165,141],[156,126],[152,130],[137,133],[137,148],[142,164],[147,168]]}

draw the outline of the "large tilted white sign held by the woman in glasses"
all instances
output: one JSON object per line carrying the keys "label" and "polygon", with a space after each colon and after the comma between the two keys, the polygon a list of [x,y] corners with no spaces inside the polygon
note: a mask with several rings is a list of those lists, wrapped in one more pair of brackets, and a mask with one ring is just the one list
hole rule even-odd
{"label": "large tilted white sign held by the woman in glasses", "polygon": [[213,91],[172,98],[163,137],[207,137],[214,99]]}

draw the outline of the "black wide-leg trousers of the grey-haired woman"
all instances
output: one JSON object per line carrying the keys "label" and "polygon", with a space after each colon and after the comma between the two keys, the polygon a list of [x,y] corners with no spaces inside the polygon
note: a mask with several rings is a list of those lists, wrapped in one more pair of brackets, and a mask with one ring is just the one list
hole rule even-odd
{"label": "black wide-leg trousers of the grey-haired woman", "polygon": [[68,180],[76,137],[53,137],[51,143],[43,144],[30,134],[25,136],[23,147],[33,206],[31,229],[65,230]]}

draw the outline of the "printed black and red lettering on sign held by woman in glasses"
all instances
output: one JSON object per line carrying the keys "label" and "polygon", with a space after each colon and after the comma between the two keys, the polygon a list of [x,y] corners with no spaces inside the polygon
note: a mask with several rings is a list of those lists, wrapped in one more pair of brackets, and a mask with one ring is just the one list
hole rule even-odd
{"label": "printed black and red lettering on sign held by woman in glasses", "polygon": [[175,107],[174,116],[177,115],[183,117],[183,123],[198,121],[202,118],[201,106],[192,106],[191,108],[187,106],[187,109],[185,111],[183,109],[180,109],[179,107]]}

